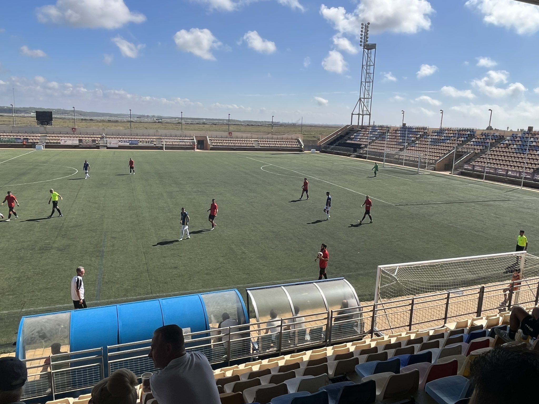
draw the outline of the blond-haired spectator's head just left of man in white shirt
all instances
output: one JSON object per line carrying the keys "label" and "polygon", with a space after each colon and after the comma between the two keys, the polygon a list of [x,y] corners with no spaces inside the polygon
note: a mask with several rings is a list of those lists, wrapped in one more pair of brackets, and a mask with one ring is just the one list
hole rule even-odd
{"label": "blond-haired spectator's head just left of man in white shirt", "polygon": [[118,369],[92,388],[88,404],[135,404],[139,381],[129,369]]}

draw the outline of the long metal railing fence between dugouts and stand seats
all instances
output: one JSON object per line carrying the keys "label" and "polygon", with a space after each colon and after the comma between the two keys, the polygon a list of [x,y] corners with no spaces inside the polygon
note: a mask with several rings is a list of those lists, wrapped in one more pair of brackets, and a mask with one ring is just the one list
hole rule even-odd
{"label": "long metal railing fence between dugouts and stand seats", "polygon": [[[280,356],[364,337],[438,328],[448,322],[509,310],[514,302],[526,306],[537,305],[538,300],[539,277],[534,277],[518,284],[488,284],[282,318],[278,324],[252,322],[191,332],[184,335],[185,346],[187,351],[204,353],[215,367],[229,366],[234,361]],[[156,372],[148,357],[150,343],[148,339],[107,346],[105,357],[101,349],[93,349],[26,359],[29,378],[23,399],[93,387],[105,374],[119,368],[128,368],[137,377]],[[52,369],[44,364],[47,358],[51,358]],[[105,374],[103,364],[107,366]]]}

